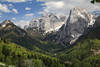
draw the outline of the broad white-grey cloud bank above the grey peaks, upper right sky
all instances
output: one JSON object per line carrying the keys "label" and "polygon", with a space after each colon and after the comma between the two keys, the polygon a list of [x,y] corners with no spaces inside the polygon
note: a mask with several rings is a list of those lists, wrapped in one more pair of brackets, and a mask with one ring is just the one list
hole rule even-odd
{"label": "broad white-grey cloud bank above the grey peaks, upper right sky", "polygon": [[44,12],[51,12],[57,14],[69,14],[70,9],[75,7],[86,8],[88,11],[100,10],[100,6],[90,3],[90,0],[37,0],[42,1],[45,5]]}

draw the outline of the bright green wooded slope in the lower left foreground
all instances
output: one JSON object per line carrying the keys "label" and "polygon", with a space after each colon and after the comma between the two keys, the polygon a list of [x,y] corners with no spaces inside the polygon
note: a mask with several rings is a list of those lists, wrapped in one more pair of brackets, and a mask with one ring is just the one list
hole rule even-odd
{"label": "bright green wooded slope in the lower left foreground", "polygon": [[0,62],[15,67],[65,67],[59,59],[0,40]]}

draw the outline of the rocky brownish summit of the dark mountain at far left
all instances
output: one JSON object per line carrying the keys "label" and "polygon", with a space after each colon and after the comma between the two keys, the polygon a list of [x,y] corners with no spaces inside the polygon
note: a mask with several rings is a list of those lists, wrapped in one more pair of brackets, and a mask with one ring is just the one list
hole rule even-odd
{"label": "rocky brownish summit of the dark mountain at far left", "polygon": [[27,34],[23,29],[16,26],[10,20],[5,20],[0,24],[0,36],[3,36],[5,34],[8,35],[8,33],[14,33],[14,32],[16,32],[16,34],[22,37]]}

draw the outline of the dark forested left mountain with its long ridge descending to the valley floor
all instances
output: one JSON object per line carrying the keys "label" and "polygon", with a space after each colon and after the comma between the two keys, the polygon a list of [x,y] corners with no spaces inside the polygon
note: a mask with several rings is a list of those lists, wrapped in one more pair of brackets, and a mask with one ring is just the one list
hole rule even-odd
{"label": "dark forested left mountain with its long ridge descending to the valley floor", "polygon": [[5,42],[13,42],[29,50],[45,53],[63,49],[63,46],[54,42],[42,41],[42,37],[37,33],[34,33],[33,36],[29,33],[30,32],[26,32],[24,29],[16,26],[10,20],[5,20],[0,24],[0,38]]}

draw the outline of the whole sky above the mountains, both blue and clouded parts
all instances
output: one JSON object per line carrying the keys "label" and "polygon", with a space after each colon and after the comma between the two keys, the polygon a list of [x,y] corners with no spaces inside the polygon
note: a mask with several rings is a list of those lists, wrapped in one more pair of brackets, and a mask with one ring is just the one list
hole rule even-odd
{"label": "whole sky above the mountains, both blue and clouded parts", "polygon": [[100,6],[91,4],[90,0],[1,0],[0,21],[10,19],[17,25],[24,26],[33,17],[39,17],[43,13],[68,16],[74,7],[85,8],[90,12],[100,10]]}

